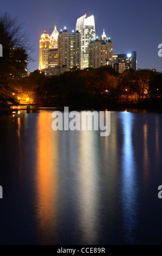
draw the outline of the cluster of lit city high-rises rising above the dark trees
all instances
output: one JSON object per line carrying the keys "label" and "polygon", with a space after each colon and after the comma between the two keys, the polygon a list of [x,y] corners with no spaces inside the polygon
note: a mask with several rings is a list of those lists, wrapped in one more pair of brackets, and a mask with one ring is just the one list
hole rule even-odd
{"label": "cluster of lit city high-rises rising above the dark trees", "polygon": [[117,72],[137,70],[136,52],[114,54],[113,42],[103,28],[96,36],[94,15],[79,17],[76,32],[68,33],[66,27],[54,31],[51,36],[45,31],[40,38],[39,70],[46,76],[60,75],[74,69],[100,68],[111,65]]}

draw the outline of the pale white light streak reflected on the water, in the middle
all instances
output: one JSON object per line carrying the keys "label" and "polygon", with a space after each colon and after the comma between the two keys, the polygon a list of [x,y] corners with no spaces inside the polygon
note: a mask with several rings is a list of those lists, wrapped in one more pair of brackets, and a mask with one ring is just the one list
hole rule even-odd
{"label": "pale white light streak reflected on the water, in the middle", "polygon": [[82,131],[80,137],[79,164],[79,223],[82,241],[89,245],[96,244],[98,220],[98,160],[97,132]]}

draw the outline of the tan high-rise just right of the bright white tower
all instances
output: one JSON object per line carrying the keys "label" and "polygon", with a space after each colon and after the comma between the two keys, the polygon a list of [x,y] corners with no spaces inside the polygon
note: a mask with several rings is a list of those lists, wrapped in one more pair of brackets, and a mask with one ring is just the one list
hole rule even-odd
{"label": "tan high-rise just right of the bright white tower", "polygon": [[107,65],[107,61],[113,59],[113,43],[108,41],[91,41],[89,46],[89,67],[96,69]]}

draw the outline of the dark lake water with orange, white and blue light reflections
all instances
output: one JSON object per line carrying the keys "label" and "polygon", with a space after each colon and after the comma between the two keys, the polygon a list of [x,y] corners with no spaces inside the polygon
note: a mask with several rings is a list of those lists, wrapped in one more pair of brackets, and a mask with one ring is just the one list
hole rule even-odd
{"label": "dark lake water with orange, white and blue light reflections", "polygon": [[0,117],[0,244],[161,244],[162,114],[111,112],[111,133]]}

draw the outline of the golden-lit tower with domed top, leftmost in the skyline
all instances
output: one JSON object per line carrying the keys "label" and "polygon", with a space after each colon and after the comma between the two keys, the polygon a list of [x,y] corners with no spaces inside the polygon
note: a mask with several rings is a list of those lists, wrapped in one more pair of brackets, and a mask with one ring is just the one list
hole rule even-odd
{"label": "golden-lit tower with domed top, leftmost in the skyline", "polygon": [[46,31],[39,41],[39,70],[48,68],[49,35]]}

